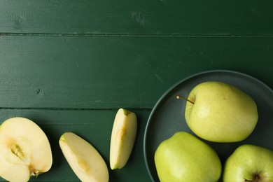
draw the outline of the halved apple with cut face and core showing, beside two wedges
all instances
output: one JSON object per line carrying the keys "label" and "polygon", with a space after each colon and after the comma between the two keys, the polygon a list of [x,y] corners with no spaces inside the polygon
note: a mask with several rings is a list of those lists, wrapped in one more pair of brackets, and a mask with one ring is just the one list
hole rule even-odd
{"label": "halved apple with cut face and core showing, beside two wedges", "polygon": [[52,153],[48,138],[27,118],[10,118],[0,126],[0,176],[7,181],[29,181],[48,172]]}

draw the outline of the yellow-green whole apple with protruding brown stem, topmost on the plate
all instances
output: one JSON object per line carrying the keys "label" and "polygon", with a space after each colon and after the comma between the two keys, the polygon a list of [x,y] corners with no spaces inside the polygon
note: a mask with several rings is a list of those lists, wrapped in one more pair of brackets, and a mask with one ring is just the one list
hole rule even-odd
{"label": "yellow-green whole apple with protruding brown stem, topmost on the plate", "polygon": [[258,122],[253,98],[228,83],[207,81],[190,91],[186,123],[197,136],[214,142],[246,139]]}

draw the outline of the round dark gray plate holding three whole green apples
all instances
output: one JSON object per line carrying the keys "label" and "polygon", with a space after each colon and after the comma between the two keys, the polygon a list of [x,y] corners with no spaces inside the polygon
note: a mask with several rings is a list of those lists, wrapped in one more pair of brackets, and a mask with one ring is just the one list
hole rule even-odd
{"label": "round dark gray plate holding three whole green apples", "polygon": [[190,90],[195,85],[209,80],[223,81],[238,87],[253,97],[258,106],[258,124],[253,133],[244,141],[225,144],[205,141],[216,150],[221,162],[225,162],[228,156],[235,151],[235,148],[242,144],[264,146],[273,151],[272,89],[260,80],[244,73],[225,70],[206,71],[183,79],[171,87],[163,94],[151,112],[144,134],[144,158],[148,173],[153,181],[159,181],[154,162],[154,154],[158,145],[163,140],[172,137],[175,132],[186,131],[193,134],[184,118],[186,102],[176,99],[176,95],[188,97]]}

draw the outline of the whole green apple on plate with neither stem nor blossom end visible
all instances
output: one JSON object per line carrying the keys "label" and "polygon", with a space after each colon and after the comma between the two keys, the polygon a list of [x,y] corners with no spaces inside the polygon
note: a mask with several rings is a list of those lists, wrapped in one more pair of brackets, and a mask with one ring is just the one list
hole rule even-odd
{"label": "whole green apple on plate with neither stem nor blossom end visible", "polygon": [[176,132],[155,151],[160,181],[218,181],[221,161],[211,146],[188,132]]}

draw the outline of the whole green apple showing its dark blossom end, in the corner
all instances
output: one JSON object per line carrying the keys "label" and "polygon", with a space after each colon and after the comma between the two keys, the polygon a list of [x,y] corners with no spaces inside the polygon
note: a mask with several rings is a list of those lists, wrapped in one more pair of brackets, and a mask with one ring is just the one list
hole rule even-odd
{"label": "whole green apple showing its dark blossom end, in the corner", "polygon": [[273,181],[273,151],[261,146],[239,146],[226,160],[223,181]]}

